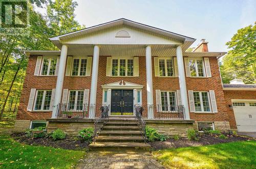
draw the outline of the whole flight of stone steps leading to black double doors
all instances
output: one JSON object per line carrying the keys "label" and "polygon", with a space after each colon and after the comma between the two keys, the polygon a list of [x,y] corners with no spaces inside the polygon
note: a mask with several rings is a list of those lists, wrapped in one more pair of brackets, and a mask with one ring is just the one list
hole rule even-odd
{"label": "whole flight of stone steps leading to black double doors", "polygon": [[149,151],[134,117],[111,117],[104,125],[92,151]]}

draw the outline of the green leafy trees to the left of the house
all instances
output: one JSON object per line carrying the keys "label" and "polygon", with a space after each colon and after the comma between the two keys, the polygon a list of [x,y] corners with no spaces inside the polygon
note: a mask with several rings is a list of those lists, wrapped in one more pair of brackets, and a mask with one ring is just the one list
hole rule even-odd
{"label": "green leafy trees to the left of the house", "polygon": [[[82,27],[74,20],[77,3],[72,0],[29,2],[28,34],[0,35],[0,119],[4,111],[17,110],[28,63],[23,50],[57,50],[49,41],[50,37]],[[42,7],[47,3],[49,6],[46,16],[34,11],[33,4]]]}

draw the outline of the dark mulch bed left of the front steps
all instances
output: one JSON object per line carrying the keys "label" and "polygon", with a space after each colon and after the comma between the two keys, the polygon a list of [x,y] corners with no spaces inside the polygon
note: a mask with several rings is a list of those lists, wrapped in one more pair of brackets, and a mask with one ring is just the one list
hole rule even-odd
{"label": "dark mulch bed left of the front steps", "polygon": [[53,140],[52,138],[30,138],[26,137],[24,133],[16,133],[11,135],[17,142],[27,145],[34,146],[47,146],[54,148],[62,148],[67,150],[88,150],[90,143],[84,142],[83,140],[77,140],[72,137],[61,140]]}

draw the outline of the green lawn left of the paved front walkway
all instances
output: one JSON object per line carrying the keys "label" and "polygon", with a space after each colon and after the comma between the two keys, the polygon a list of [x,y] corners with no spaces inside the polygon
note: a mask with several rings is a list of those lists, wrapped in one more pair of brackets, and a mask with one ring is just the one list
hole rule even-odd
{"label": "green lawn left of the paved front walkway", "polygon": [[71,168],[85,152],[28,146],[0,135],[0,168]]}

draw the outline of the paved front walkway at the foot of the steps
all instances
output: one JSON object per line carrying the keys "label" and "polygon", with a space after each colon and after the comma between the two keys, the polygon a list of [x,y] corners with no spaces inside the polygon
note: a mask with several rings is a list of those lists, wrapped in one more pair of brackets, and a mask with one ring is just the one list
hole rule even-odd
{"label": "paved front walkway at the foot of the steps", "polygon": [[80,159],[79,169],[90,168],[144,168],[155,169],[164,167],[148,152],[88,152]]}

